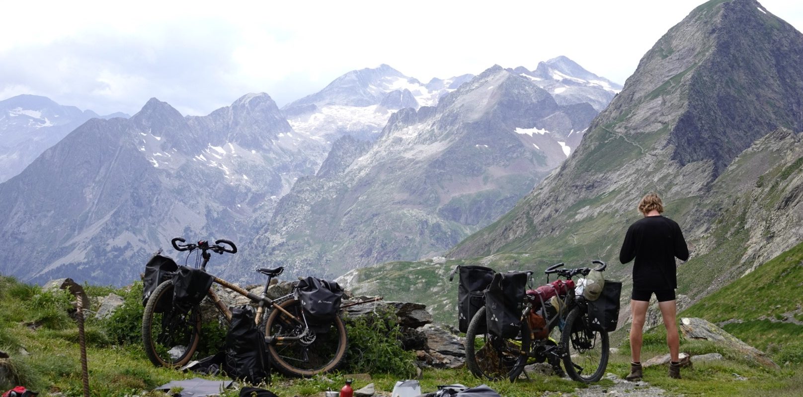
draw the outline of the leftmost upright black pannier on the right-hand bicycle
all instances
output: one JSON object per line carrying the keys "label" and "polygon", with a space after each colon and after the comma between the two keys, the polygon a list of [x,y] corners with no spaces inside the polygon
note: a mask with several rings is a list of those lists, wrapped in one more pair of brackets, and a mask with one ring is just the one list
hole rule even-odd
{"label": "leftmost upright black pannier on the right-hand bicycle", "polygon": [[[460,332],[468,330],[468,323],[480,307],[485,305],[485,289],[494,278],[494,269],[485,266],[457,265],[449,275],[449,281],[454,279],[454,273],[460,273],[457,288],[457,323]],[[485,326],[479,332],[485,333]]]}

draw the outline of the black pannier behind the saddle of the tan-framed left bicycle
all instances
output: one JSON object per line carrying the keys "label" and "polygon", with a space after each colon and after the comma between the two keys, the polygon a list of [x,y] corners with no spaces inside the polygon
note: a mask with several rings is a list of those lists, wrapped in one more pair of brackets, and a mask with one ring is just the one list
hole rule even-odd
{"label": "black pannier behind the saddle of the tan-framed left bicycle", "polygon": [[310,329],[319,334],[327,332],[340,311],[343,288],[336,282],[306,277],[299,280],[294,294]]}

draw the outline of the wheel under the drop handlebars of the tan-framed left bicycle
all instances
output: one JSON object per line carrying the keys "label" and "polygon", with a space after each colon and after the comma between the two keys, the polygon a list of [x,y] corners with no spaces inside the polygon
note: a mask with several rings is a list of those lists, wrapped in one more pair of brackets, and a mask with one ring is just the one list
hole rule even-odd
{"label": "wheel under the drop handlebars of the tan-framed left bicycle", "polygon": [[153,290],[142,314],[142,344],[153,365],[181,367],[190,362],[201,338],[201,310],[189,313],[173,308],[173,281]]}

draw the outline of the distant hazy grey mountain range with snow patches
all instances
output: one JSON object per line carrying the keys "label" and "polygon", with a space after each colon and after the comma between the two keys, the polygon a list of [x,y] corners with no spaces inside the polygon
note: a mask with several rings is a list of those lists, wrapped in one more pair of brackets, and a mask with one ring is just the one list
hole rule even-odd
{"label": "distant hazy grey mountain range with snow patches", "polygon": [[[589,75],[570,61],[552,63],[574,80],[581,78],[569,67]],[[589,81],[589,102],[559,104],[521,70],[492,67],[422,84],[381,65],[349,72],[281,110],[267,94],[244,95],[206,116],[183,116],[151,99],[128,120],[88,120],[0,184],[0,238],[18,247],[0,253],[0,272],[119,285],[137,277],[150,253],[168,249],[171,237],[184,236],[226,237],[246,248],[222,270],[227,277],[250,279],[255,265],[279,257],[301,273],[313,262],[297,259],[319,246],[274,249],[295,245],[304,224],[320,226],[305,231],[315,238],[361,247],[344,249],[354,256],[331,269],[315,264],[318,274],[448,249],[565,160],[597,114],[591,103],[609,92]],[[401,176],[401,190],[380,186]],[[332,186],[353,191],[337,190],[322,206]],[[359,205],[349,210],[349,201]],[[369,201],[394,204],[380,214],[361,208]],[[319,222],[346,211],[348,227]],[[366,213],[378,222],[357,216]],[[381,220],[398,225],[383,230]],[[348,236],[354,228],[366,231],[365,240]],[[380,242],[394,235],[410,236],[402,239],[407,248]]]}

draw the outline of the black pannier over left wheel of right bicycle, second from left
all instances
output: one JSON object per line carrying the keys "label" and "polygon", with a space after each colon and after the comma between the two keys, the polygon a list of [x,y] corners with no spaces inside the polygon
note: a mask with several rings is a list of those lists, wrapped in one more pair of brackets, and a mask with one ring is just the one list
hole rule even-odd
{"label": "black pannier over left wheel of right bicycle, second from left", "polygon": [[521,330],[521,309],[528,273],[496,273],[485,290],[485,320],[488,333],[515,338]]}

